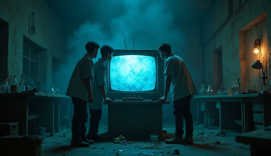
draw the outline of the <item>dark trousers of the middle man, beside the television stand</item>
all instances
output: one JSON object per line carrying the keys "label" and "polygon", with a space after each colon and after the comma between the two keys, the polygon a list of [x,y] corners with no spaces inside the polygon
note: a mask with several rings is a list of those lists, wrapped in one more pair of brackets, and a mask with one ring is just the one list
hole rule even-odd
{"label": "dark trousers of the middle man, beside the television stand", "polygon": [[102,110],[101,109],[89,109],[90,119],[89,119],[89,134],[96,135],[99,127],[99,122],[102,117]]}

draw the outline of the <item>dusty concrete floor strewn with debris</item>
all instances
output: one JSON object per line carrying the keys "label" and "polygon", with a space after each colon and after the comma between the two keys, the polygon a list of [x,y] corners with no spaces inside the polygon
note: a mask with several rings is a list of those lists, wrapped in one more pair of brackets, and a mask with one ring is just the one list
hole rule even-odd
{"label": "dusty concrete floor strewn with debris", "polygon": [[[175,130],[174,124],[163,126],[167,129],[164,139],[170,138]],[[95,143],[88,148],[70,147],[71,129],[61,128],[60,133],[55,133],[54,137],[46,137],[42,144],[42,155],[52,156],[86,156],[86,155],[177,155],[174,151],[178,149],[180,155],[195,156],[249,156],[250,146],[235,142],[237,133],[227,131],[225,135],[219,136],[218,128],[202,128],[194,126],[194,145],[173,145],[159,143],[150,143],[148,141],[127,141],[122,144],[113,144],[112,142]],[[106,135],[107,126],[100,125],[99,135]],[[123,151],[119,151],[123,150]]]}

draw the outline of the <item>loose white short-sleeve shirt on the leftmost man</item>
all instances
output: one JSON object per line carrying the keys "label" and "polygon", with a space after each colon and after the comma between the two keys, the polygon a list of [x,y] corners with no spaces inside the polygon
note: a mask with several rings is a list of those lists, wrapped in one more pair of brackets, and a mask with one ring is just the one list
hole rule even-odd
{"label": "loose white short-sleeve shirt on the leftmost man", "polygon": [[[91,56],[85,54],[76,64],[67,88],[66,96],[88,101],[88,90],[84,79],[89,78],[93,90],[94,63]],[[93,91],[92,91],[93,92]]]}

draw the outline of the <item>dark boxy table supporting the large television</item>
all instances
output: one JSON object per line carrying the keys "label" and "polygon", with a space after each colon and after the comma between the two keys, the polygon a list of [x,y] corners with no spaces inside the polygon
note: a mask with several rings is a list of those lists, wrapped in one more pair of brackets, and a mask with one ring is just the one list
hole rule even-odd
{"label": "dark boxy table supporting the large television", "polygon": [[158,101],[112,101],[108,104],[108,137],[122,135],[129,140],[150,138],[151,134],[162,137],[162,106]]}

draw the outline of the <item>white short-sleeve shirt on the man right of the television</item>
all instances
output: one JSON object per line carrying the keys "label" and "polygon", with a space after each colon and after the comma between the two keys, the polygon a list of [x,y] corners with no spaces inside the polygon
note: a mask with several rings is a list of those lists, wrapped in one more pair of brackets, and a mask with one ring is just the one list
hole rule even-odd
{"label": "white short-sleeve shirt on the man right of the television", "polygon": [[172,76],[170,91],[173,101],[198,93],[185,62],[179,56],[169,55],[166,59],[164,75]]}

